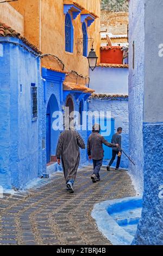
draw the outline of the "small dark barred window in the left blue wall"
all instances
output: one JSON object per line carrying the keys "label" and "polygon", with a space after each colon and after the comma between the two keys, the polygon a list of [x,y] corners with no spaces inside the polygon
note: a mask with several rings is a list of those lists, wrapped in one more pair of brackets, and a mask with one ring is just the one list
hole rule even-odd
{"label": "small dark barred window in the left blue wall", "polygon": [[32,98],[32,120],[37,119],[37,87],[34,83],[31,84],[31,98]]}

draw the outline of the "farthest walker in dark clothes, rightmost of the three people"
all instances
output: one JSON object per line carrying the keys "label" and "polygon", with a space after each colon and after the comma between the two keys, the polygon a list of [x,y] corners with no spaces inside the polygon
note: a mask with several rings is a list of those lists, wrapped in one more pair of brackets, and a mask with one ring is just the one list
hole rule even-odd
{"label": "farthest walker in dark clothes, rightmost of the three people", "polygon": [[117,143],[120,145],[119,148],[112,148],[112,158],[109,162],[109,165],[106,167],[106,169],[108,171],[110,171],[110,166],[111,164],[114,162],[116,155],[118,155],[117,157],[117,164],[116,164],[116,169],[115,170],[119,170],[120,167],[120,162],[121,162],[121,155],[122,155],[122,150],[121,150],[121,141],[122,141],[122,127],[118,127],[117,132],[112,136],[112,140],[111,143]]}

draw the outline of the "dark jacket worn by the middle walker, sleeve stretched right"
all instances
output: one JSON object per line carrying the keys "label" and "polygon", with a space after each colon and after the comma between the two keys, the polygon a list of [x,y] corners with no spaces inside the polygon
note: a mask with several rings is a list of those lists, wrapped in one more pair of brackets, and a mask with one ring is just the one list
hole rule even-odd
{"label": "dark jacket worn by the middle walker, sleeve stretched right", "polygon": [[107,142],[98,132],[92,132],[87,141],[87,154],[94,160],[101,160],[104,157],[103,144],[112,148],[116,144]]}

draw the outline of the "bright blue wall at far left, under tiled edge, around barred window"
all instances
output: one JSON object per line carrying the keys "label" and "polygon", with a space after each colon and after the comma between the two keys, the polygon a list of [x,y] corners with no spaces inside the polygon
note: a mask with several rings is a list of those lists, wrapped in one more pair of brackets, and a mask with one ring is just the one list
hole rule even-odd
{"label": "bright blue wall at far left, under tiled edge, around barred window", "polygon": [[[0,43],[3,41],[0,38]],[[5,41],[18,39],[5,38]],[[0,57],[0,185],[7,188],[22,188],[39,176],[39,118],[32,121],[31,83],[40,89],[40,60],[19,46],[3,45]],[[22,85],[22,86],[21,86]],[[22,92],[21,92],[22,90]],[[41,101],[38,95],[38,104]]]}

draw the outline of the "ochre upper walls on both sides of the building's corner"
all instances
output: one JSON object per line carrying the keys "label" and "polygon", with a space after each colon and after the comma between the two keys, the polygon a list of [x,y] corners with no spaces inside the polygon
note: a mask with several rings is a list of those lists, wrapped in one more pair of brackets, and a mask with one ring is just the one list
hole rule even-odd
{"label": "ochre upper walls on both sides of the building's corner", "polygon": [[[95,39],[93,47],[96,50],[98,62],[100,62],[100,15],[101,0],[77,0],[85,9],[92,11],[99,16],[87,28],[89,38]],[[19,0],[10,3],[17,11],[24,16],[24,36],[40,48],[42,53],[51,53],[58,56],[65,64],[65,70],[75,70],[84,76],[89,75],[89,66],[86,57],[79,55],[78,38],[83,37],[80,15],[72,20],[74,27],[73,53],[65,52],[65,15],[63,0]],[[41,27],[40,27],[41,13]],[[91,44],[89,43],[88,51]],[[53,58],[43,58],[43,66],[51,66],[60,69]]]}

